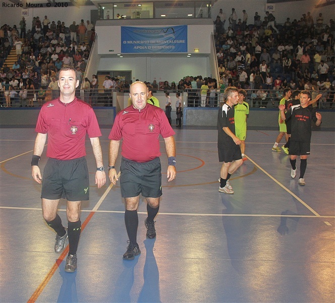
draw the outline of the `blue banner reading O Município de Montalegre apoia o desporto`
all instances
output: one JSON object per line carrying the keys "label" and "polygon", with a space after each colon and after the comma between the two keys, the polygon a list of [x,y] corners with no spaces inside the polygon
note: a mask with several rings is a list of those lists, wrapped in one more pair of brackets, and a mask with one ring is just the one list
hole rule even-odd
{"label": "blue banner reading O Munic\u00edpio de Montalegre apoia o desporto", "polygon": [[187,25],[121,26],[122,53],[187,53]]}

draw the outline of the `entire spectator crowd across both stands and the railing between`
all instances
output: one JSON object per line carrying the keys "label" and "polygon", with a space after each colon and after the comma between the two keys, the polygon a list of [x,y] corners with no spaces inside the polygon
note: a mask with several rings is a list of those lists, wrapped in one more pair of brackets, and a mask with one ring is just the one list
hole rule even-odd
{"label": "entire spectator crowd across both stands and the railing between", "polygon": [[[210,107],[222,101],[220,92],[226,87],[236,86],[247,90],[248,98],[256,100],[259,107],[266,107],[269,100],[276,106],[283,89],[289,87],[311,90],[315,95],[320,92],[319,106],[333,107],[333,19],[326,22],[320,13],[314,20],[307,12],[299,20],[287,18],[284,24],[277,24],[270,12],[263,17],[255,12],[252,21],[246,10],[241,13],[239,18],[239,12],[233,8],[227,18],[220,9],[214,21],[219,79],[186,76],[179,82],[163,84],[154,80],[148,82],[153,91],[186,89],[189,106]],[[77,69],[85,100],[97,97],[97,76],[93,75],[91,81],[82,76],[95,35],[90,21],[86,24],[84,20],[79,24],[73,21],[67,27],[65,22],[56,24],[44,16],[42,21],[34,17],[31,29],[26,27],[23,17],[19,28],[7,24],[0,28],[0,101],[3,104],[6,101],[6,107],[11,107],[13,100],[21,100],[21,106],[33,106],[57,97],[57,72],[66,66]],[[16,50],[17,61],[7,66],[4,62],[12,48]],[[127,92],[131,84],[107,78],[105,82],[112,84],[103,85],[105,103],[110,101],[111,90]]]}

